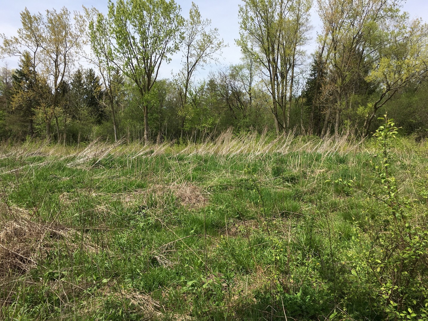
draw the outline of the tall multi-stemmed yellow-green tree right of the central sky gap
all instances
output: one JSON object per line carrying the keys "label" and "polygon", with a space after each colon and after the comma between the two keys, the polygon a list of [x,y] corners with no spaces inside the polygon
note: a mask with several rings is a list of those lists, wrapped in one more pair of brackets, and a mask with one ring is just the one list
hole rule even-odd
{"label": "tall multi-stemmed yellow-green tree right of the central sky gap", "polygon": [[312,0],[245,0],[239,8],[237,43],[244,55],[254,57],[267,77],[278,134],[289,127],[297,51],[306,41],[311,6]]}

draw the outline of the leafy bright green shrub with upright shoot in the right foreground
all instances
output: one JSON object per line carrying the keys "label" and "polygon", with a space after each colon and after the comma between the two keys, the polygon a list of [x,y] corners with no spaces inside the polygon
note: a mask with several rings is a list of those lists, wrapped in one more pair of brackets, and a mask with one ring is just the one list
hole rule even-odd
{"label": "leafy bright green shrub with upright shoot in the right foreground", "polygon": [[367,304],[382,319],[425,320],[428,229],[411,214],[410,199],[400,196],[398,182],[392,175],[392,147],[398,128],[386,116],[383,119],[385,124],[373,135],[379,151],[372,161],[375,184],[335,181],[348,195],[357,190],[366,193],[378,207],[377,213],[371,215],[374,205],[367,204],[365,222],[354,227],[358,236],[353,241],[361,246],[361,252],[354,257],[354,272],[351,271],[357,277],[357,288],[352,289],[354,294],[346,293],[345,304],[352,305],[356,296],[365,293]]}

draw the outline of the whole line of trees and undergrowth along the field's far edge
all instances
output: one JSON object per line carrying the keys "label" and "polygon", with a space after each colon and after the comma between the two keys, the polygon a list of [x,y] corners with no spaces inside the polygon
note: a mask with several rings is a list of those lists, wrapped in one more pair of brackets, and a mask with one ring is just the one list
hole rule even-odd
{"label": "whole line of trees and undergrowth along the field's far edge", "polygon": [[[236,131],[367,136],[388,113],[405,134],[428,129],[428,27],[398,0],[318,0],[322,30],[307,53],[312,0],[245,0],[241,63],[197,71],[226,45],[192,3],[109,1],[107,15],[21,12],[2,35],[0,139],[173,140]],[[85,53],[90,48],[90,53]],[[159,79],[181,52],[182,68]],[[79,66],[85,59],[89,68]]]}

